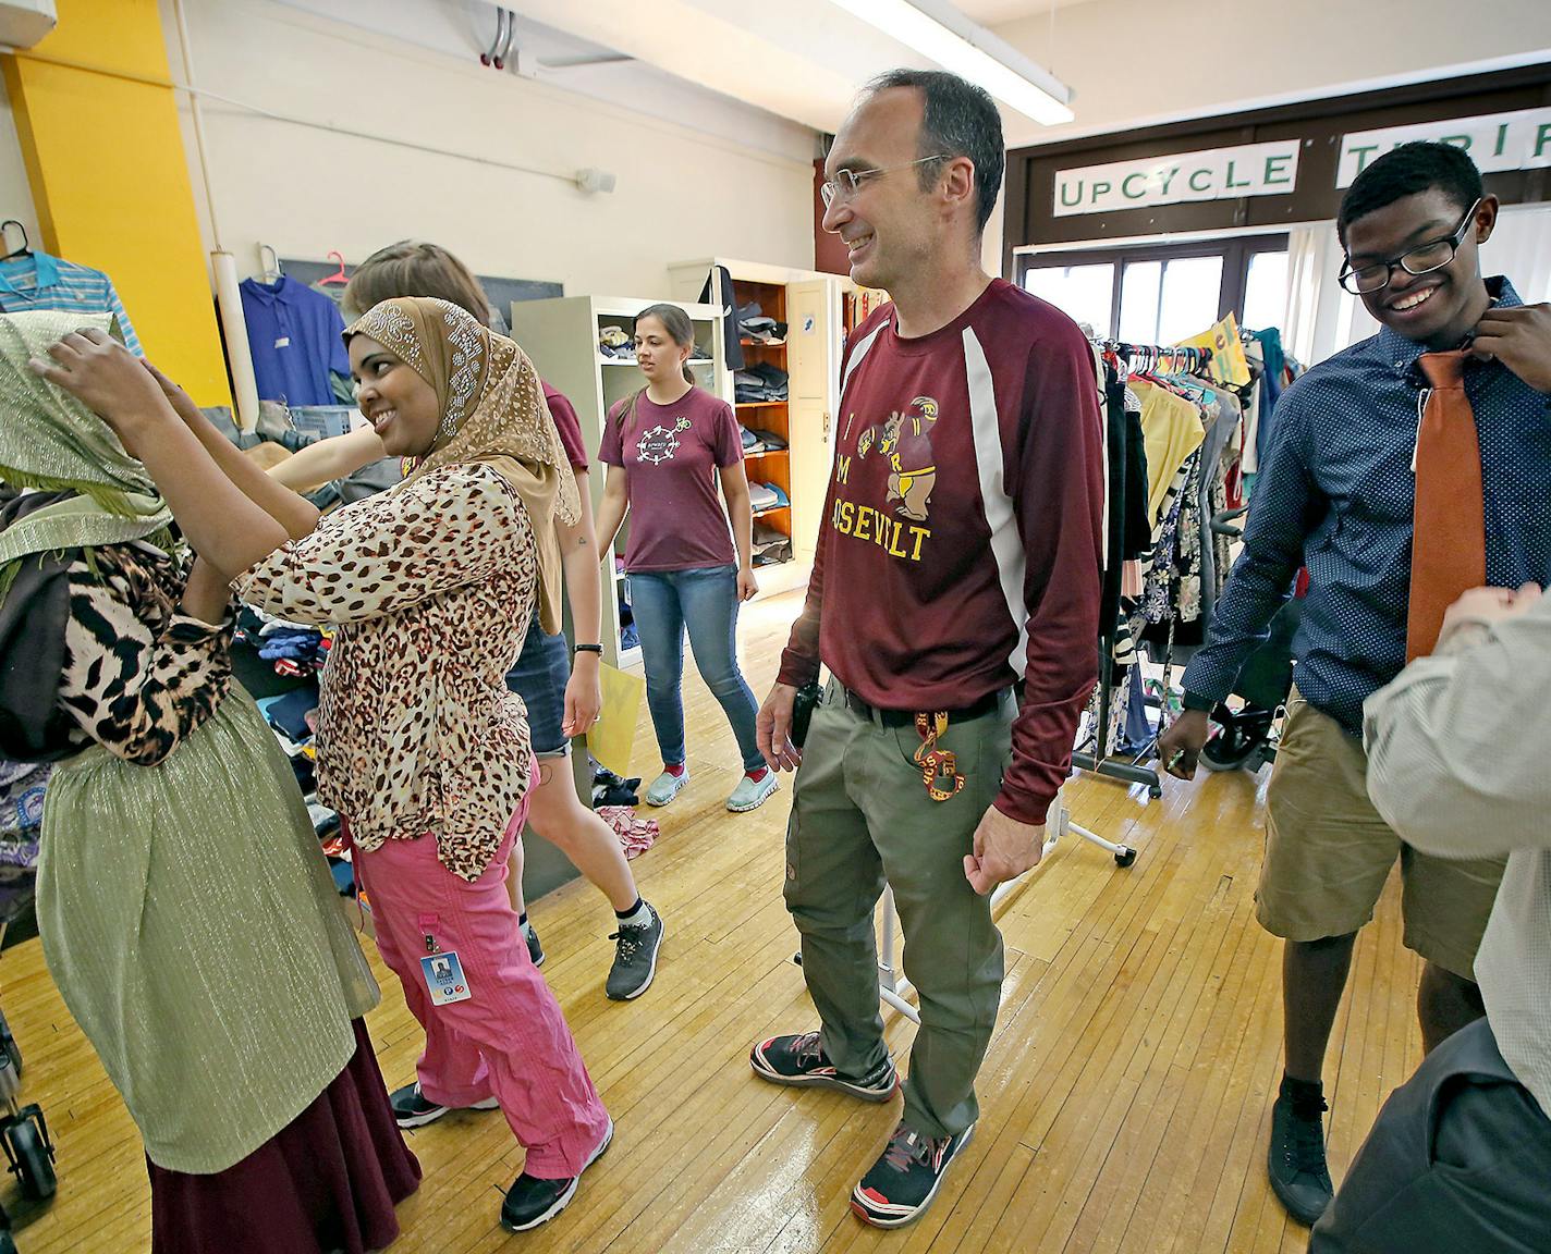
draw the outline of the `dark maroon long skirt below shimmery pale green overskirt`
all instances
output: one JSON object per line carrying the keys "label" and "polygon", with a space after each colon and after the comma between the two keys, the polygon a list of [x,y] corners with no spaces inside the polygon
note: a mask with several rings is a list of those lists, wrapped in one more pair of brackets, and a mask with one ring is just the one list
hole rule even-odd
{"label": "dark maroon long skirt below shimmery pale green overskirt", "polygon": [[366,1025],[355,1054],[301,1114],[216,1175],[150,1159],[152,1254],[366,1254],[399,1235],[394,1204],[420,1184]]}

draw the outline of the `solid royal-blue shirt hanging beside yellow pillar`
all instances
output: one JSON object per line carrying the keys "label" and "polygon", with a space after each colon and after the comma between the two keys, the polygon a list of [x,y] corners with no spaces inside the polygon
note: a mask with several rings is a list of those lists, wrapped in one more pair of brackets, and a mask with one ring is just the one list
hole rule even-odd
{"label": "solid royal-blue shirt hanging beside yellow pillar", "polygon": [[329,374],[349,378],[351,358],[340,338],[344,319],[333,301],[284,274],[273,285],[244,279],[240,290],[259,398],[290,406],[335,405]]}

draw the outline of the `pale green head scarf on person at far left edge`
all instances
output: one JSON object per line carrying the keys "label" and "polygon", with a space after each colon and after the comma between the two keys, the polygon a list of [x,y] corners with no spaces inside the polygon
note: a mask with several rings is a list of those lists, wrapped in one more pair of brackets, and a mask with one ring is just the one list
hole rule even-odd
{"label": "pale green head scarf on person at far left edge", "polygon": [[110,313],[0,313],[0,481],[73,493],[0,532],[0,595],[31,553],[172,544],[172,513],[146,468],[102,419],[26,367],[82,327],[116,332]]}

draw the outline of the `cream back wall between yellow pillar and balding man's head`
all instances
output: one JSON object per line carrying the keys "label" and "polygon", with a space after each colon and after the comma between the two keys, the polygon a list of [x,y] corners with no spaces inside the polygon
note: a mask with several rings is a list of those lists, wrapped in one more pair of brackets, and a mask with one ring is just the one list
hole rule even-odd
{"label": "cream back wall between yellow pillar and balding man's head", "polygon": [[[445,25],[445,0],[423,5],[428,25]],[[405,237],[442,243],[484,274],[563,282],[568,295],[662,296],[670,262],[712,254],[813,265],[813,140],[802,127],[760,115],[765,147],[755,150],[275,0],[185,8],[202,87],[433,149],[206,99],[220,236],[244,273],[257,273],[259,242],[281,256],[321,260],[338,250],[355,262]],[[168,33],[181,78],[171,22]],[[648,109],[658,104],[650,90],[641,88]],[[724,129],[726,118],[718,122]],[[619,181],[613,194],[585,195],[557,178],[442,152],[554,172],[599,166]],[[199,188],[195,195],[203,200]]]}

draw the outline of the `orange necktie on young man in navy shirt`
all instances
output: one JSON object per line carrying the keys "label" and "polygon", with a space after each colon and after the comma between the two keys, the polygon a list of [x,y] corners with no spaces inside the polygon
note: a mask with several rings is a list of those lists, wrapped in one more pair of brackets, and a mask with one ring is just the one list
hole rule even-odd
{"label": "orange necktie on young man in navy shirt", "polygon": [[1438,643],[1444,611],[1486,584],[1486,504],[1481,445],[1464,394],[1463,352],[1424,353],[1432,384],[1416,429],[1416,508],[1411,515],[1411,600],[1405,660]]}

